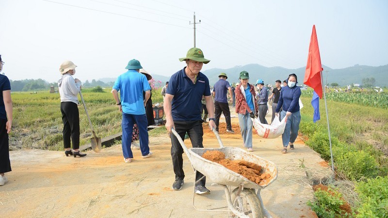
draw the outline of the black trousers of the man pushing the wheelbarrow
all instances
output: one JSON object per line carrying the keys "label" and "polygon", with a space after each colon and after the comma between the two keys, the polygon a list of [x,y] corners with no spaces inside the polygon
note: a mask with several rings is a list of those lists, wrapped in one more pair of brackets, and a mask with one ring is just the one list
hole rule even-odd
{"label": "black trousers of the man pushing the wheelbarrow", "polygon": [[[198,121],[174,121],[175,130],[179,134],[182,140],[185,139],[185,134],[190,137],[193,148],[203,148],[203,128],[202,120]],[[180,145],[177,137],[174,134],[171,137],[171,157],[173,159],[173,167],[175,173],[175,179],[184,179],[185,173],[183,172],[183,148]],[[198,181],[203,176],[202,173],[196,172],[195,181]],[[205,186],[206,177],[204,177],[197,185]]]}

